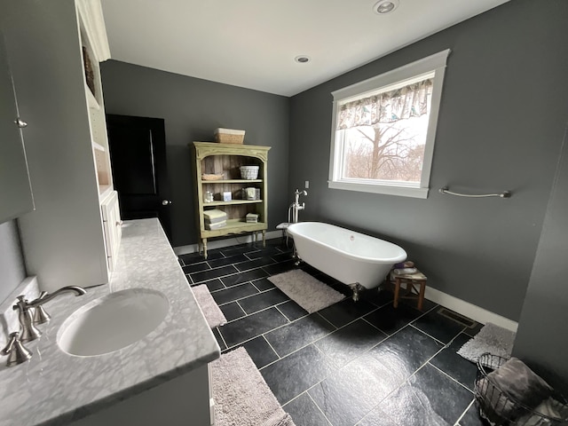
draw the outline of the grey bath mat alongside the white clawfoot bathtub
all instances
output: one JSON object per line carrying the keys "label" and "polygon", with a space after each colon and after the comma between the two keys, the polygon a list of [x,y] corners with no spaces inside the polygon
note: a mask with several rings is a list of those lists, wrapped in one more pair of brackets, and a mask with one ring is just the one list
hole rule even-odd
{"label": "grey bath mat alongside the white clawfoot bathtub", "polygon": [[301,269],[272,275],[268,277],[268,280],[271,280],[286,296],[309,313],[327,308],[345,298],[345,295],[316,280]]}

